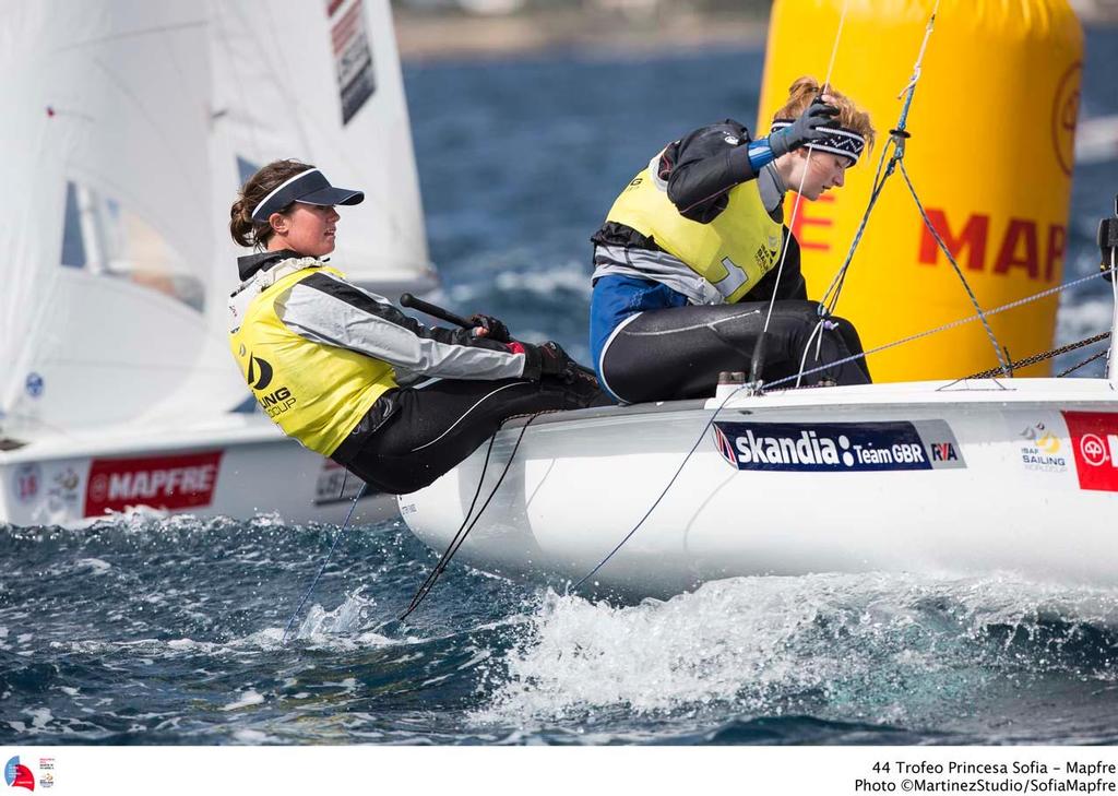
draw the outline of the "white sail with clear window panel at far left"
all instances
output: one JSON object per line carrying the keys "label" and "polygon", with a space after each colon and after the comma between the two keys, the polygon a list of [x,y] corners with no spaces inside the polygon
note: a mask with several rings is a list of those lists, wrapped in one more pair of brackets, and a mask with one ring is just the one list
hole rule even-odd
{"label": "white sail with clear window panel at far left", "polygon": [[2,9],[4,428],[134,417],[201,367],[214,253],[205,11]]}

